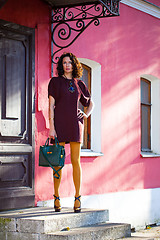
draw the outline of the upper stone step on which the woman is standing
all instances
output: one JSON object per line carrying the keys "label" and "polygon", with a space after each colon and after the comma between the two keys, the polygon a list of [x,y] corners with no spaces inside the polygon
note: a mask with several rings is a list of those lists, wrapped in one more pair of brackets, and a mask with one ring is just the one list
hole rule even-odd
{"label": "upper stone step on which the woman is standing", "polygon": [[108,210],[63,208],[56,213],[53,208],[37,207],[0,213],[0,232],[50,233],[64,228],[79,228],[86,225],[104,223],[109,220]]}

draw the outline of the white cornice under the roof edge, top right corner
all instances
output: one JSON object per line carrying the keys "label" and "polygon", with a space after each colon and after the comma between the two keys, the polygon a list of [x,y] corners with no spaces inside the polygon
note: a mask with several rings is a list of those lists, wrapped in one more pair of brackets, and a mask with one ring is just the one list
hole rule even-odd
{"label": "white cornice under the roof edge, top right corner", "polygon": [[136,8],[142,12],[160,18],[160,7],[142,0],[121,0],[121,3]]}

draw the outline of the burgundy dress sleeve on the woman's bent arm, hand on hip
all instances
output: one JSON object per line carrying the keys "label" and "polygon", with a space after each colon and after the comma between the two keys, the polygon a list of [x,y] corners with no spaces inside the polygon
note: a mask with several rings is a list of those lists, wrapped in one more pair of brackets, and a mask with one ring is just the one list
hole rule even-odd
{"label": "burgundy dress sleeve on the woman's bent arm, hand on hip", "polygon": [[85,85],[85,83],[81,80],[78,81],[78,85],[79,85],[80,91],[81,91],[80,102],[82,103],[82,105],[84,107],[88,107],[90,104],[90,100],[91,100],[91,95],[88,91],[88,88]]}

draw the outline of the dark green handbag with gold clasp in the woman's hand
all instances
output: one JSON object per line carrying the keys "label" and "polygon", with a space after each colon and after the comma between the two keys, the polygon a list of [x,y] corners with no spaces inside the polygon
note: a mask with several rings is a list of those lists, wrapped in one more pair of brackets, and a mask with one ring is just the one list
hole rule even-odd
{"label": "dark green handbag with gold clasp in the woman's hand", "polygon": [[[64,167],[65,162],[65,148],[59,145],[58,139],[55,137],[55,144],[49,145],[49,138],[47,138],[45,145],[40,146],[39,149],[39,166],[51,167],[54,170],[53,176],[60,178],[59,171]],[[54,167],[60,167],[56,170]],[[56,176],[57,175],[57,176]]]}

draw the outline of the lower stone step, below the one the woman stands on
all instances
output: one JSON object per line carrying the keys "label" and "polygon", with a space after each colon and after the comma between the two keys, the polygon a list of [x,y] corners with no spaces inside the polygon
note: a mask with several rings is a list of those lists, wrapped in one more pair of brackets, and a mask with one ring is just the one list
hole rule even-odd
{"label": "lower stone step, below the one the woman stands on", "polygon": [[54,233],[0,232],[3,240],[111,240],[129,237],[130,224],[103,223]]}

